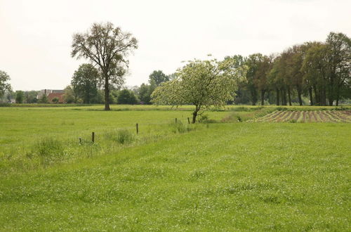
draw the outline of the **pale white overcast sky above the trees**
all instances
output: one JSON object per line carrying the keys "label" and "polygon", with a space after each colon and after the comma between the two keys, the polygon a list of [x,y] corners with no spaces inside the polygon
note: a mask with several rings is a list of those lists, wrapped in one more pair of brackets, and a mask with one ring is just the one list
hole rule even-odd
{"label": "pale white overcast sky above the trees", "polygon": [[277,53],[329,32],[351,36],[351,1],[0,0],[0,70],[15,90],[63,89],[86,60],[70,57],[72,34],[112,22],[139,41],[126,85],[182,60]]}

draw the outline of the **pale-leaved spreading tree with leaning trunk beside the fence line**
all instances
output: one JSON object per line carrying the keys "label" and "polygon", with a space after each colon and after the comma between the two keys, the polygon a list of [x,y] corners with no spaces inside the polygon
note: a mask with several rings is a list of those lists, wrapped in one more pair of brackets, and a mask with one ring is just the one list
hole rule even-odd
{"label": "pale-leaved spreading tree with leaning trunk beside the fence line", "polygon": [[237,82],[244,78],[246,66],[233,68],[233,58],[217,60],[194,60],[178,70],[177,78],[164,82],[152,93],[157,104],[195,106],[192,123],[197,115],[213,106],[224,106],[234,99]]}

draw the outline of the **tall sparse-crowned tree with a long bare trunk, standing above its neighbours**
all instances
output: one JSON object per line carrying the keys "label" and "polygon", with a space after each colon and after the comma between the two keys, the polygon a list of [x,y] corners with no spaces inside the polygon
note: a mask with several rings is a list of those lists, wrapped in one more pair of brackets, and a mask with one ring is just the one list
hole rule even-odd
{"label": "tall sparse-crowned tree with a long bare trunk, standing above its neighbours", "polygon": [[72,57],[87,58],[100,67],[105,89],[105,110],[110,110],[110,84],[123,84],[128,68],[126,58],[137,48],[138,41],[111,22],[94,23],[89,32],[74,34]]}

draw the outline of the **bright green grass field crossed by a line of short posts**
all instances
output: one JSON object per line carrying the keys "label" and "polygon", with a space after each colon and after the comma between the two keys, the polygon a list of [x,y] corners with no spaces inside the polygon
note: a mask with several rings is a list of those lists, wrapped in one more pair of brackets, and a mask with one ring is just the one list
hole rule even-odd
{"label": "bright green grass field crossed by a line of short posts", "polygon": [[350,123],[101,108],[0,108],[0,231],[351,229]]}

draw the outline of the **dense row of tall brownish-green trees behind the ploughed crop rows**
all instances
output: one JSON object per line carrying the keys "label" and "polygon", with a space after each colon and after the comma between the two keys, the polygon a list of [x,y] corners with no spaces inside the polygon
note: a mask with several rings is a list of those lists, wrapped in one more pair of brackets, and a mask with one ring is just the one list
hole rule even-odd
{"label": "dense row of tall brownish-green trees behind the ploughed crop rows", "polygon": [[[280,54],[260,53],[240,57],[249,67],[239,96],[249,96],[252,105],[265,100],[277,105],[291,105],[294,98],[303,105],[338,105],[351,97],[351,40],[345,34],[331,32],[325,42],[306,42]],[[248,100],[241,99],[242,100]]]}

